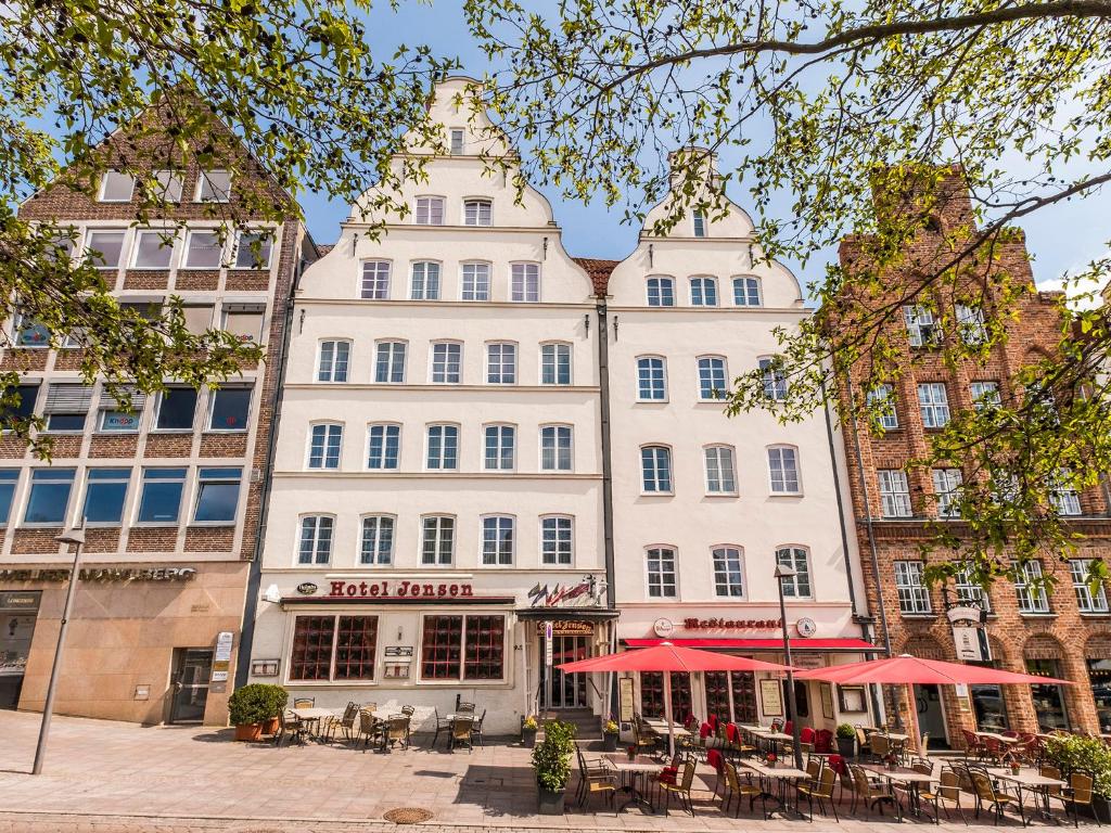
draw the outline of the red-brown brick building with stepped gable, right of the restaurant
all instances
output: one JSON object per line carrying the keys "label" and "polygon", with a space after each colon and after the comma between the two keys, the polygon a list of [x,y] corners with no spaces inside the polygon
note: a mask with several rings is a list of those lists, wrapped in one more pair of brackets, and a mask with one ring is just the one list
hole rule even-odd
{"label": "red-brown brick building with stepped gable, right of the restaurant", "polygon": [[[874,303],[902,303],[902,314],[892,319],[905,335],[894,339],[904,369],[891,385],[892,412],[884,418],[883,431],[873,434],[862,424],[845,426],[850,485],[861,561],[868,588],[869,608],[877,612],[880,640],[890,639],[892,653],[957,661],[955,640],[967,652],[960,659],[983,662],[1010,671],[1029,671],[1063,678],[1075,685],[1035,686],[914,686],[918,717],[931,745],[963,745],[962,729],[1012,729],[1047,731],[1069,727],[1111,731],[1111,616],[1107,591],[1085,588],[1084,559],[1109,554],[1111,519],[1101,490],[1065,492],[1057,496],[1058,511],[1068,515],[1070,526],[1087,538],[1073,560],[1044,559],[1028,570],[1053,574],[1052,590],[1038,591],[1024,584],[1012,586],[998,580],[987,591],[967,581],[945,586],[928,586],[922,579],[925,561],[950,560],[952,551],[938,550],[923,556],[921,544],[934,534],[931,522],[944,512],[944,494],[962,481],[954,469],[902,470],[908,460],[923,456],[930,448],[933,425],[944,424],[950,414],[971,409],[982,398],[1015,397],[1014,377],[1023,365],[1052,354],[1060,340],[1061,322],[1057,295],[1030,292],[1020,301],[1021,315],[1007,323],[1007,340],[991,351],[984,362],[962,361],[955,369],[944,364],[938,339],[941,333],[929,310],[907,298],[907,288],[917,280],[917,263],[928,262],[942,251],[947,230],[969,224],[974,228],[971,202],[955,178],[943,181],[944,197],[931,222],[917,237],[903,265],[884,275],[890,294]],[[1033,277],[1021,233],[1000,244],[995,269],[1032,288]],[[841,263],[860,268],[862,241],[847,239],[840,249]],[[979,278],[977,275],[978,282]],[[992,287],[989,280],[980,285]],[[932,290],[931,290],[932,291]],[[990,291],[990,289],[988,290]],[[953,298],[934,299],[935,308],[954,312],[962,327],[979,325],[982,312],[959,307]],[[991,297],[987,299],[990,305]],[[894,323],[897,322],[898,323]],[[949,328],[953,330],[955,328]],[[859,397],[870,357],[865,353],[842,380],[840,395]],[[859,400],[858,400],[859,401]],[[955,524],[958,518],[944,518]],[[961,619],[954,609],[983,606],[985,624]],[[950,621],[955,620],[955,621]],[[967,630],[972,626],[972,630]],[[967,642],[965,642],[967,640]],[[904,715],[905,717],[907,715]]]}

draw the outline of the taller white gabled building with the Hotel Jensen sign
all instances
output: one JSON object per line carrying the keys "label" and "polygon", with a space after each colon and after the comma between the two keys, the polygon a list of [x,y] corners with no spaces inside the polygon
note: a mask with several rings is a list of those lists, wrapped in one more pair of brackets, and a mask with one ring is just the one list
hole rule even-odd
{"label": "taller white gabled building with the Hotel Jensen sign", "polygon": [[252,680],[423,729],[461,697],[508,733],[540,690],[530,590],[565,609],[557,663],[610,642],[599,333],[548,202],[480,158],[501,149],[457,110],[468,83],[437,91],[451,154],[404,184],[410,213],[376,241],[356,207],[296,293]]}

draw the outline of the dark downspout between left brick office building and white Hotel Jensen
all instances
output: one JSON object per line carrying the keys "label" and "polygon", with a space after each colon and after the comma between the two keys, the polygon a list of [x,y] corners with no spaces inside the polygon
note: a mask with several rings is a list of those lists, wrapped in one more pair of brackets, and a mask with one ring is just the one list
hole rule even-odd
{"label": "dark downspout between left brick office building and white Hotel Jensen", "polygon": [[[302,234],[301,244],[307,235]],[[301,274],[304,272],[304,259],[298,252],[293,267],[293,281],[290,284],[289,297],[286,299],[284,321],[282,322],[281,351],[278,354],[277,374],[273,398],[270,402],[270,436],[267,441],[267,456],[262,469],[262,493],[259,496],[259,525],[254,530],[254,552],[250,571],[247,575],[247,599],[243,603],[243,624],[239,636],[239,652],[236,659],[236,688],[247,685],[250,672],[251,646],[254,642],[254,618],[259,611],[259,591],[262,585],[262,542],[267,532],[267,519],[270,514],[270,490],[273,485],[273,462],[278,449],[278,431],[281,426],[281,402],[286,392],[286,361],[289,358],[289,343],[292,338],[293,299],[301,287]],[[271,369],[268,369],[270,372]]]}

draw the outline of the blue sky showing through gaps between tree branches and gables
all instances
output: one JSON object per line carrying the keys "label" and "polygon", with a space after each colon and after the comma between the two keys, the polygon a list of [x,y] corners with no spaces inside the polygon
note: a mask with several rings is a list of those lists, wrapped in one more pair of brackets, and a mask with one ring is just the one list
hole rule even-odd
{"label": "blue sky showing through gaps between tree branches and gables", "polygon": [[[397,12],[380,4],[370,14],[369,38],[379,56],[392,54],[401,43],[427,43],[441,57],[459,58],[466,74],[481,76],[492,69],[470,38],[461,0],[433,0],[431,3],[401,0]],[[621,224],[620,208],[610,211],[601,200],[585,205],[560,200],[551,189],[546,190],[546,195],[563,228],[563,244],[571,254],[621,259],[632,251],[638,229]],[[732,197],[745,208],[743,194]],[[301,202],[313,238],[320,243],[334,241],[340,221],[348,214],[348,205],[311,192],[303,193]],[[1022,227],[1034,257],[1034,279],[1040,285],[1054,288],[1064,271],[1082,269],[1107,253],[1107,242],[1111,240],[1111,191],[1043,209],[1028,218]],[[835,251],[828,250],[805,267],[791,262],[788,265],[805,285],[821,278],[823,263],[834,257]]]}

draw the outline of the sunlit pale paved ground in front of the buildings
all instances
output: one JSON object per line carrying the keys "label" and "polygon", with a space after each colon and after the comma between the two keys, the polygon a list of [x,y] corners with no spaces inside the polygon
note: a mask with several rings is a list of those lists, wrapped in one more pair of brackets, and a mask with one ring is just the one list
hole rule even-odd
{"label": "sunlit pale paved ground in front of the buildings", "polygon": [[[721,813],[710,789],[694,793],[693,819],[678,810],[670,816],[638,810],[614,815],[600,797],[597,812],[541,816],[529,750],[488,743],[451,754],[442,737],[431,749],[431,735],[391,753],[340,743],[276,749],[233,743],[230,730],[56,717],[43,773],[32,776],[38,726],[37,714],[0,711],[0,833],[381,833],[401,826],[382,821],[396,807],[429,810],[432,819],[419,825],[426,833],[905,833],[921,824],[842,815],[834,827],[832,817],[819,815],[800,827],[798,821],[763,821],[759,812],[753,817],[743,811],[737,820]],[[973,822],[973,829],[990,826],[988,819]],[[968,827],[954,821],[941,830]]]}

